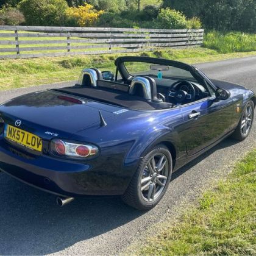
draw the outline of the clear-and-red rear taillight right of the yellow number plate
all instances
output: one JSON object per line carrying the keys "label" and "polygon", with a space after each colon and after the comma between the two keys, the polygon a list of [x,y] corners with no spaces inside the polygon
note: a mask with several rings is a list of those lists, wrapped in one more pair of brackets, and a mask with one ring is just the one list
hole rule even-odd
{"label": "clear-and-red rear taillight right of the yellow number plate", "polygon": [[54,139],[51,141],[51,151],[60,156],[86,158],[97,155],[99,149],[91,144],[80,144]]}

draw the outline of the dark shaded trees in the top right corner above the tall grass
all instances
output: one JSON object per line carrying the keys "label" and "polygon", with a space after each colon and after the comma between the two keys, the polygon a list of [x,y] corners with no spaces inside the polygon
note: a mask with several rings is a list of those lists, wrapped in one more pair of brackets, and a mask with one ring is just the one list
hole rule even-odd
{"label": "dark shaded trees in the top right corner above the tall grass", "polygon": [[163,0],[163,7],[199,16],[207,29],[256,31],[255,0]]}

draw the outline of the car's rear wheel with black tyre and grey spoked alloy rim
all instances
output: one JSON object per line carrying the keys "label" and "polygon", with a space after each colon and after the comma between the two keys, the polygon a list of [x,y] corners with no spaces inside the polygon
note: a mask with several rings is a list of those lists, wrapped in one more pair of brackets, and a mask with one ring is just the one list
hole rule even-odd
{"label": "car's rear wheel with black tyre and grey spoked alloy rim", "polygon": [[[159,159],[157,163],[155,162],[156,170],[157,170],[158,165],[161,165],[161,166],[163,165],[163,163],[160,163],[161,158],[163,157],[165,159],[165,160],[162,160],[162,162],[164,162],[164,163],[166,162],[166,165],[164,166],[164,168],[165,168],[165,175],[168,175],[168,176],[163,176],[162,175],[163,171],[160,171],[162,173],[158,172],[158,174],[157,174],[157,172],[154,172],[154,174],[152,176],[158,175],[158,177],[160,177],[160,176],[166,177],[167,179],[162,180],[162,182],[165,183],[164,187],[163,187],[163,183],[159,179],[158,179],[158,181],[155,180],[155,179],[157,179],[155,177],[152,177],[152,179],[154,179],[154,181],[151,181],[151,180],[147,181],[147,182],[151,182],[151,184],[149,186],[153,186],[155,184],[154,185],[155,186],[154,187],[154,193],[155,193],[154,195],[156,195],[158,193],[157,198],[154,199],[154,196],[153,196],[153,199],[151,199],[151,198],[148,199],[143,194],[143,193],[146,193],[146,190],[142,191],[142,188],[146,187],[146,186],[142,187],[142,179],[143,179],[143,177],[146,177],[146,176],[144,176],[145,172],[148,172],[148,174],[150,173],[149,172],[150,170],[148,169],[148,165],[152,164],[153,157],[154,157],[154,162],[155,162],[155,159]],[[160,202],[160,200],[164,196],[164,194],[168,188],[169,182],[171,180],[171,174],[172,174],[171,154],[165,145],[159,144],[158,146],[155,146],[148,154],[146,154],[146,156],[143,157],[143,159],[141,159],[141,162],[137,168],[137,171],[135,172],[132,180],[130,181],[130,184],[129,184],[126,192],[122,196],[123,201],[126,204],[132,206],[133,208],[137,208],[138,210],[151,210],[153,207],[155,207],[155,205],[158,204],[158,202]],[[149,176],[151,177],[151,174],[149,174]],[[146,179],[150,179],[149,176],[146,177]],[[160,178],[160,179],[162,179],[162,178]],[[162,183],[161,186],[158,185],[159,181],[160,181],[160,183]],[[158,192],[156,192],[157,189],[159,189]],[[148,189],[148,194],[149,194],[149,190],[150,189]],[[149,200],[149,201],[147,201],[147,200]],[[152,201],[150,201],[150,200],[152,200]]]}

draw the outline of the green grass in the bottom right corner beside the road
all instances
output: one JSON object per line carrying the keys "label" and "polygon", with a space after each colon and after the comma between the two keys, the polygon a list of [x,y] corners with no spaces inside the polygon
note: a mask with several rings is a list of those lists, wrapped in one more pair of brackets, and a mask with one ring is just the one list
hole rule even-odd
{"label": "green grass in the bottom right corner beside the road", "polygon": [[[255,255],[256,149],[226,180],[203,194],[197,207],[156,236],[132,248],[134,255]],[[129,252],[130,254],[130,252]]]}

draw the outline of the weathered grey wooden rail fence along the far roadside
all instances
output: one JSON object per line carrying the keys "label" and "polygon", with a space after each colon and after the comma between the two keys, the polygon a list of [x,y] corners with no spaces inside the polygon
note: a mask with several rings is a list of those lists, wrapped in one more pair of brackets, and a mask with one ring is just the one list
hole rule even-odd
{"label": "weathered grey wooden rail fence along the far roadside", "polygon": [[187,48],[203,38],[204,29],[0,26],[0,59]]}

